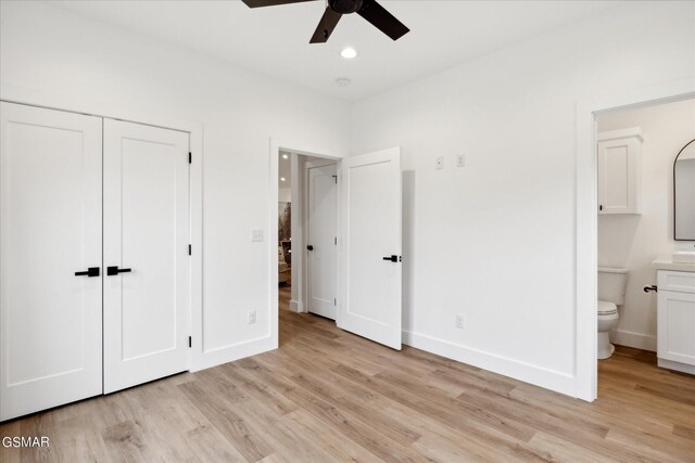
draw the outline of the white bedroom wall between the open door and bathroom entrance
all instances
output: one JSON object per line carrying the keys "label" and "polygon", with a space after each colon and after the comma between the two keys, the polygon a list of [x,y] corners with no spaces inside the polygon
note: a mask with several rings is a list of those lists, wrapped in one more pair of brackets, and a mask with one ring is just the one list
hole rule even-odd
{"label": "white bedroom wall between the open door and bathroom entrance", "polygon": [[578,395],[577,107],[693,78],[694,25],[623,3],[353,105],[353,153],[404,149],[408,344]]}

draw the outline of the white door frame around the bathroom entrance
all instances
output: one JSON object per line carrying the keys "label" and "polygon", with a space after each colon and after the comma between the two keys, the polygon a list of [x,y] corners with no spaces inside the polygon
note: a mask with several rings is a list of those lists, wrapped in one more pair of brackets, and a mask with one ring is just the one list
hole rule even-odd
{"label": "white door frame around the bathroom entrance", "polygon": [[695,78],[666,85],[615,92],[594,101],[577,103],[576,145],[576,247],[574,247],[574,375],[573,390],[565,394],[586,401],[598,395],[597,274],[598,266],[598,175],[596,116],[630,107],[669,103],[695,98]]}

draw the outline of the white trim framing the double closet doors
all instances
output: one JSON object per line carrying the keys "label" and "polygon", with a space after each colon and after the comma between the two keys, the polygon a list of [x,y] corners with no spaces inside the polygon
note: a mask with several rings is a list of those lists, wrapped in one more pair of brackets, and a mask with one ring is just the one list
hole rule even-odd
{"label": "white trim framing the double closet doors", "polygon": [[203,124],[197,120],[180,119],[168,114],[124,108],[93,101],[86,101],[55,93],[36,93],[14,86],[1,86],[2,98],[7,103],[85,114],[102,118],[124,120],[144,126],[178,130],[189,134],[189,151],[192,163],[189,173],[189,227],[192,246],[190,272],[189,326],[192,348],[188,365],[194,372],[213,366],[214,359],[205,358],[203,339]]}

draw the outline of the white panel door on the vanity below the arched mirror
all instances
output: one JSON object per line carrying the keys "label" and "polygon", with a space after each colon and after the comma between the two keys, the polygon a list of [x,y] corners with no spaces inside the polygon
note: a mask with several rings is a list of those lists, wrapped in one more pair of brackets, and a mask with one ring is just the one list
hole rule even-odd
{"label": "white panel door on the vanity below the arched mirror", "polygon": [[695,365],[695,294],[659,287],[657,311],[658,357]]}

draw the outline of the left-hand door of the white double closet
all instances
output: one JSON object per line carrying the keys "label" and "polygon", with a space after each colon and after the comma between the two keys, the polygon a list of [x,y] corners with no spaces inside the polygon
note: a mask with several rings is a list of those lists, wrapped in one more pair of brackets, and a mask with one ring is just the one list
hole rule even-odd
{"label": "left-hand door of the white double closet", "polygon": [[102,391],[101,118],[0,103],[0,125],[8,420]]}

